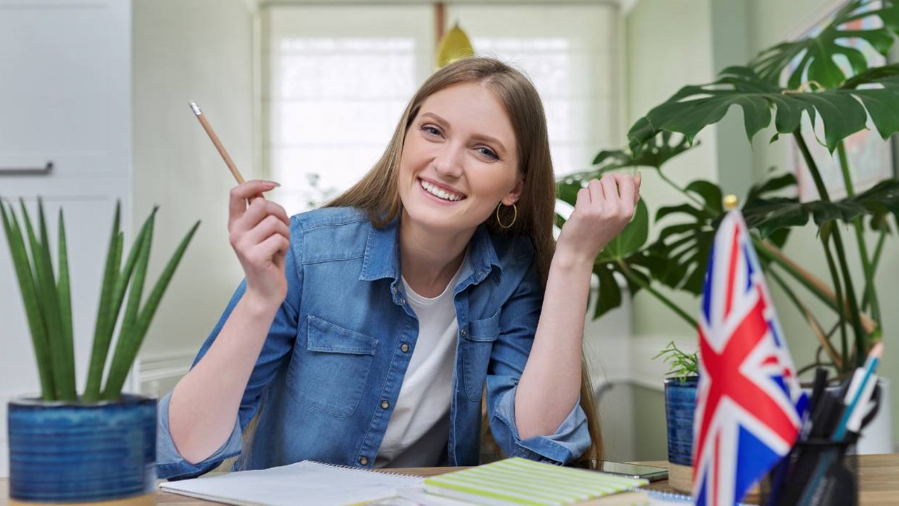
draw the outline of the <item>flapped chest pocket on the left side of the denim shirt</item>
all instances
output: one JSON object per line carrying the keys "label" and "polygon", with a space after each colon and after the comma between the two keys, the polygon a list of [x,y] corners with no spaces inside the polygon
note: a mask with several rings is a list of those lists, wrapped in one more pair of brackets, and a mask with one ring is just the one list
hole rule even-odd
{"label": "flapped chest pocket on the left side of the denim shirt", "polygon": [[338,418],[352,415],[368,382],[378,339],[309,315],[306,349],[295,348],[288,390],[301,404]]}

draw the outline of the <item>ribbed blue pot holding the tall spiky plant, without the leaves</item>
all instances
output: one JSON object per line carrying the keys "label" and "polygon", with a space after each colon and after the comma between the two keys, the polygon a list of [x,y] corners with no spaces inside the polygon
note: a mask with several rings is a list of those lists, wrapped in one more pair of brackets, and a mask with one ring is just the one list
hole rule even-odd
{"label": "ribbed blue pot holding the tall spiky plant, without the leaves", "polygon": [[[13,501],[94,502],[156,489],[156,399],[9,402]],[[142,501],[143,502],[143,501]]]}

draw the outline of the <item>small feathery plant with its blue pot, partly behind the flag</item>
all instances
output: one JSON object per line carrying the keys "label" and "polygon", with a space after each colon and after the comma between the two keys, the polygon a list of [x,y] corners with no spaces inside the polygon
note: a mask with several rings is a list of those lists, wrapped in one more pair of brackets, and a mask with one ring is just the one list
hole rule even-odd
{"label": "small feathery plant with its blue pot, partly behind the flag", "polygon": [[699,382],[699,357],[687,353],[674,342],[654,358],[668,365],[665,380],[665,420],[668,423],[668,483],[681,492],[690,492],[693,479],[693,415]]}

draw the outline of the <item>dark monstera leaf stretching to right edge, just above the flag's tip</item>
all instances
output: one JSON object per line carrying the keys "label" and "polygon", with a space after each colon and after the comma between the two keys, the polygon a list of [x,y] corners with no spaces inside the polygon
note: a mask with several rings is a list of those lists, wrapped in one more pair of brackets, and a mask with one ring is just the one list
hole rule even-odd
{"label": "dark monstera leaf stretching to right edge, just above the flag's tip", "polygon": [[871,215],[872,227],[884,223],[887,213],[899,218],[899,180],[887,179],[868,191],[838,202],[800,203],[795,199],[757,199],[743,210],[746,224],[762,236],[776,230],[805,225],[811,217],[819,227],[832,221],[850,223],[861,215]]}

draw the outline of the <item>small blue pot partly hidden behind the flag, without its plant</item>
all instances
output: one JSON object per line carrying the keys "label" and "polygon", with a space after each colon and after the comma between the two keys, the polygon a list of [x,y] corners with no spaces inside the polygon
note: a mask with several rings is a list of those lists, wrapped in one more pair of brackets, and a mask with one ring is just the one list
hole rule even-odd
{"label": "small blue pot partly hidden behind the flag, without its plant", "polygon": [[696,412],[696,385],[699,376],[685,381],[665,380],[665,418],[668,420],[668,461],[692,465],[693,414]]}

